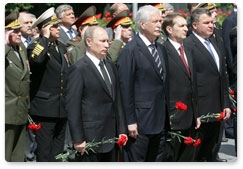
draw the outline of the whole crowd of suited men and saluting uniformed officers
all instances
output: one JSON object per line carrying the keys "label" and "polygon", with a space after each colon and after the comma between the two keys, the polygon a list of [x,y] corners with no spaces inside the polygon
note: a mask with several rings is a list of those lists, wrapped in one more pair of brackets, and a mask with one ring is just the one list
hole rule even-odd
{"label": "whole crowd of suited men and saluting uniformed officers", "polygon": [[[68,4],[7,15],[5,160],[58,162],[76,151],[68,161],[227,161],[218,156],[227,125],[237,143],[232,5],[221,26],[214,3],[189,3],[190,19],[172,4],[147,4],[136,30],[124,3],[112,4],[106,27],[95,6],[77,18]],[[41,127],[29,130],[30,119]],[[113,138],[125,138],[122,147],[87,152]]]}

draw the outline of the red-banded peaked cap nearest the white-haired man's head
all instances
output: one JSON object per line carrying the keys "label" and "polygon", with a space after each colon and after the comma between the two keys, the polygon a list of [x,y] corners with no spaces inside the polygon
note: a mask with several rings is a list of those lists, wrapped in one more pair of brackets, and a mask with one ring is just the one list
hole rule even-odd
{"label": "red-banded peaked cap nearest the white-haired man's head", "polygon": [[130,26],[132,24],[132,20],[129,17],[129,10],[125,10],[120,12],[115,18],[113,18],[106,27],[111,27],[115,29],[118,25],[121,26]]}

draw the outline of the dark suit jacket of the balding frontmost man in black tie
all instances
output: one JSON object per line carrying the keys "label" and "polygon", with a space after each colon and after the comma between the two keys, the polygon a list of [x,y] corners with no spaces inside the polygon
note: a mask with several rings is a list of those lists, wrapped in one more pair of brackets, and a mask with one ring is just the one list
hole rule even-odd
{"label": "dark suit jacket of the balding frontmost man in black tie", "polygon": [[[105,62],[112,81],[113,96],[88,56],[70,66],[66,108],[73,143],[97,142],[127,133],[117,70],[113,63]],[[114,144],[103,144],[94,150],[106,153],[113,147]]]}

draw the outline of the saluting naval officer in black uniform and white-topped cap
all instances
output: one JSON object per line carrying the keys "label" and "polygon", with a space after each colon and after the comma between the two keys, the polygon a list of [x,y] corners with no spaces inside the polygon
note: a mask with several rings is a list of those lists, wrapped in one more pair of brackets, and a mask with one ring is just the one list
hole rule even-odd
{"label": "saluting naval officer in black uniform and white-topped cap", "polygon": [[46,10],[33,24],[40,37],[27,48],[31,69],[30,114],[41,124],[36,132],[37,161],[56,161],[63,152],[67,114],[64,108],[66,47],[60,36],[54,8]]}

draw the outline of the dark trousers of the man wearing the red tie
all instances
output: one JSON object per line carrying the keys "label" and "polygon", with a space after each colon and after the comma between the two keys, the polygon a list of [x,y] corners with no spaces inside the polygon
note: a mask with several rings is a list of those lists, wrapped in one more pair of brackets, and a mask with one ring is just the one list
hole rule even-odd
{"label": "dark trousers of the man wearing the red tie", "polygon": [[[195,129],[188,129],[188,130],[180,130],[181,135],[183,136],[190,136],[192,138],[197,138],[197,134]],[[172,131],[176,132],[176,131]],[[177,137],[167,137],[166,144],[166,162],[193,162],[195,161],[195,153],[196,147],[193,145],[186,145],[184,144],[184,139]]]}

